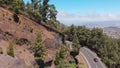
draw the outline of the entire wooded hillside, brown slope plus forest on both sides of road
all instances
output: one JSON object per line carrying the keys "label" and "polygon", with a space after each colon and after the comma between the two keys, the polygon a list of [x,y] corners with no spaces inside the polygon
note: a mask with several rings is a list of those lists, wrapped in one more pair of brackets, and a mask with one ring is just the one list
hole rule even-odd
{"label": "entire wooded hillside, brown slope plus forest on both sides of road", "polygon": [[[108,68],[120,67],[120,39],[102,29],[65,26],[50,0],[0,0],[0,66],[76,68],[81,47],[93,50]],[[72,42],[72,49],[65,45]]]}

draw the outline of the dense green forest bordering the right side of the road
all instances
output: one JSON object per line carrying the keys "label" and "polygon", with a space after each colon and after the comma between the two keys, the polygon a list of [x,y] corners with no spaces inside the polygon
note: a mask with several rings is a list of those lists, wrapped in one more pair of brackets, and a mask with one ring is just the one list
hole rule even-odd
{"label": "dense green forest bordering the right side of the road", "polygon": [[[76,29],[74,31],[73,29]],[[97,53],[108,68],[120,67],[120,39],[109,38],[102,29],[88,29],[85,26],[71,25],[64,32],[66,39],[71,41],[73,35],[77,34],[81,46],[86,46]]]}

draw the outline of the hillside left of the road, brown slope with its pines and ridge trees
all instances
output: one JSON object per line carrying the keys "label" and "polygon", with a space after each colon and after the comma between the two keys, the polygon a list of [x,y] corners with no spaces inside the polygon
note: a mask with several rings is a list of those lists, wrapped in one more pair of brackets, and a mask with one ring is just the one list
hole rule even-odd
{"label": "hillside left of the road, brown slope with its pines and ridge trees", "polygon": [[49,0],[31,0],[27,4],[23,0],[0,0],[0,66],[76,68],[77,35],[73,50],[69,50],[62,33],[66,26],[56,20],[56,15]]}

